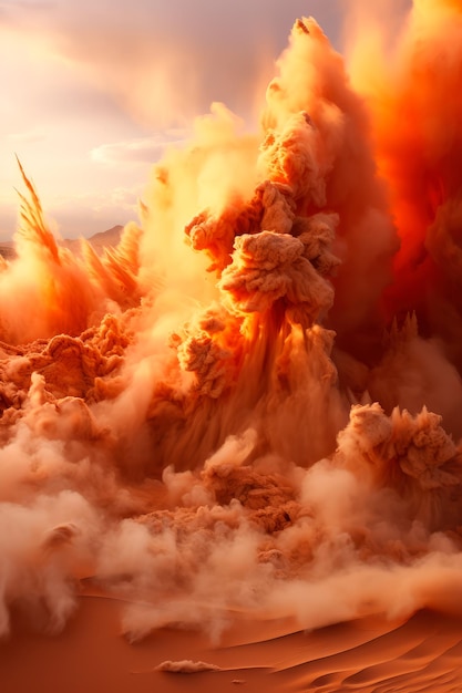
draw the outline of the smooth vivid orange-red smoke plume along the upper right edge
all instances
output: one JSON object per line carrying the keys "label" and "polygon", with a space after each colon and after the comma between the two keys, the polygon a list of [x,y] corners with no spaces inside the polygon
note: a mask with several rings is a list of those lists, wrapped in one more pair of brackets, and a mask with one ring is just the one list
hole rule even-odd
{"label": "smooth vivid orange-red smoke plume along the upper right edge", "polygon": [[359,41],[353,59],[400,237],[388,314],[415,311],[422,332],[441,338],[458,365],[461,11],[455,0],[414,2],[394,54],[366,60]]}

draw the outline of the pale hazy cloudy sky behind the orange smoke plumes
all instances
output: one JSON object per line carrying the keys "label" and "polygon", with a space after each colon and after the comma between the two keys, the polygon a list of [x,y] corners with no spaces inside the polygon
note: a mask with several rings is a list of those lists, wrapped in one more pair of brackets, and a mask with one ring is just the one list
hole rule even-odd
{"label": "pale hazy cloudy sky behind the orange smoke plumes", "polygon": [[164,143],[212,101],[250,125],[295,19],[341,49],[346,1],[0,0],[0,239],[16,228],[14,154],[63,237],[136,219]]}

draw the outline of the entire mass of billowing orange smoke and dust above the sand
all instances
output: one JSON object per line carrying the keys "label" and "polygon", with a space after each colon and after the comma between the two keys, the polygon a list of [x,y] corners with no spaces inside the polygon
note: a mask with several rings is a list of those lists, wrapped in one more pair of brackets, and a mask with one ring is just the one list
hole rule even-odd
{"label": "entire mass of billowing orange smoke and dust above the sand", "polygon": [[215,104],[102,255],[55,241],[24,176],[0,633],[17,611],[59,630],[95,587],[131,638],[455,599],[461,39],[462,2],[420,1],[355,92],[298,20],[259,136]]}

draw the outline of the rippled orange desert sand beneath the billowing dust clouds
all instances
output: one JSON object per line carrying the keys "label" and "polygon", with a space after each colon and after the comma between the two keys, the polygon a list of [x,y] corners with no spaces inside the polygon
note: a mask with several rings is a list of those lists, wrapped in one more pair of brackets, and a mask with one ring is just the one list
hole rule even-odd
{"label": "rippled orange desert sand beneath the billowing dust clouds", "polygon": [[[16,614],[0,645],[2,693],[111,691],[455,692],[462,687],[462,619],[420,611],[407,621],[367,618],[300,632],[242,616],[213,642],[160,629],[137,643],[121,632],[116,599],[86,594],[59,635]],[[207,666],[205,666],[205,664]],[[179,669],[181,671],[163,671]],[[208,671],[196,671],[208,669]]]}

